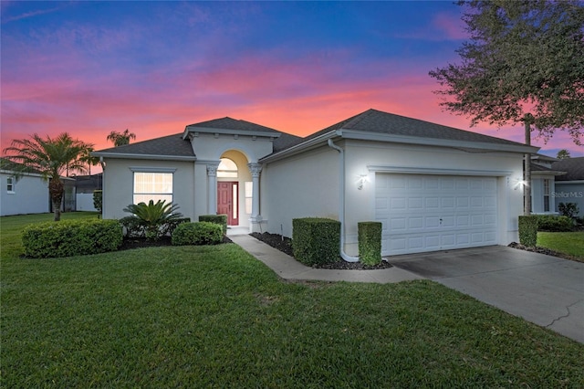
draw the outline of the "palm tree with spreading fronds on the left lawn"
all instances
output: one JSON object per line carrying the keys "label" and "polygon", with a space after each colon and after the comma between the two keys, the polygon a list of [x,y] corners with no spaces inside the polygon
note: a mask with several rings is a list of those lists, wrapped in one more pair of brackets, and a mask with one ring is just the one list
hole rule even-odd
{"label": "palm tree with spreading fronds on the left lawn", "polygon": [[34,133],[30,139],[16,139],[10,147],[4,149],[5,159],[20,163],[16,173],[35,171],[42,174],[48,180],[48,193],[53,204],[55,221],[61,219],[61,202],[63,200],[63,182],[60,179],[62,173],[70,170],[86,172],[86,162],[83,156],[89,155],[89,149],[93,144],[81,142],[71,138],[67,132],[63,132],[55,139],[47,135],[41,138]]}

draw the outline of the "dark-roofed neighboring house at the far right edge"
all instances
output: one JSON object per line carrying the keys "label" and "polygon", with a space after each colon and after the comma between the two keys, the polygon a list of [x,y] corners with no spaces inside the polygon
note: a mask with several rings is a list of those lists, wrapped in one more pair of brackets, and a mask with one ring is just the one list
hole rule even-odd
{"label": "dark-roofed neighboring house at the far right edge", "polygon": [[559,203],[576,203],[579,216],[584,216],[584,157],[566,158],[552,163],[552,169],[566,174],[556,177],[556,188],[552,196]]}

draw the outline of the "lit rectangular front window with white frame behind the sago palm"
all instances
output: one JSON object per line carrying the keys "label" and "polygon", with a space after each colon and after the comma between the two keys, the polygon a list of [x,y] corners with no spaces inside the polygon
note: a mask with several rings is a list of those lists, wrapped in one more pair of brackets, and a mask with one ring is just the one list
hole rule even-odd
{"label": "lit rectangular front window with white frame behind the sago palm", "polygon": [[172,203],[172,173],[134,172],[134,204],[150,200]]}

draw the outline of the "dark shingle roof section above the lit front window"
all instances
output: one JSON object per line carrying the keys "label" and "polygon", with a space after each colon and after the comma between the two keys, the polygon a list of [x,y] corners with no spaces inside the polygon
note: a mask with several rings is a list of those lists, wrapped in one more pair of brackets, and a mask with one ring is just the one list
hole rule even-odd
{"label": "dark shingle roof section above the lit front window", "polygon": [[162,138],[155,138],[149,141],[125,144],[96,152],[98,155],[99,153],[194,157],[193,146],[190,141],[183,140],[183,133],[163,136]]}

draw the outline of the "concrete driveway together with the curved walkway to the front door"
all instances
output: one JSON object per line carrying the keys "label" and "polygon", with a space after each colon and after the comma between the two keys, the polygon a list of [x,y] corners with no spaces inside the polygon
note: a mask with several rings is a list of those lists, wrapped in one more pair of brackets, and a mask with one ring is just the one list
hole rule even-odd
{"label": "concrete driveway together with the curved walkway to the front door", "polygon": [[235,244],[282,279],[392,283],[433,279],[476,300],[584,343],[584,263],[494,246],[391,257],[393,268],[309,268],[247,234]]}

